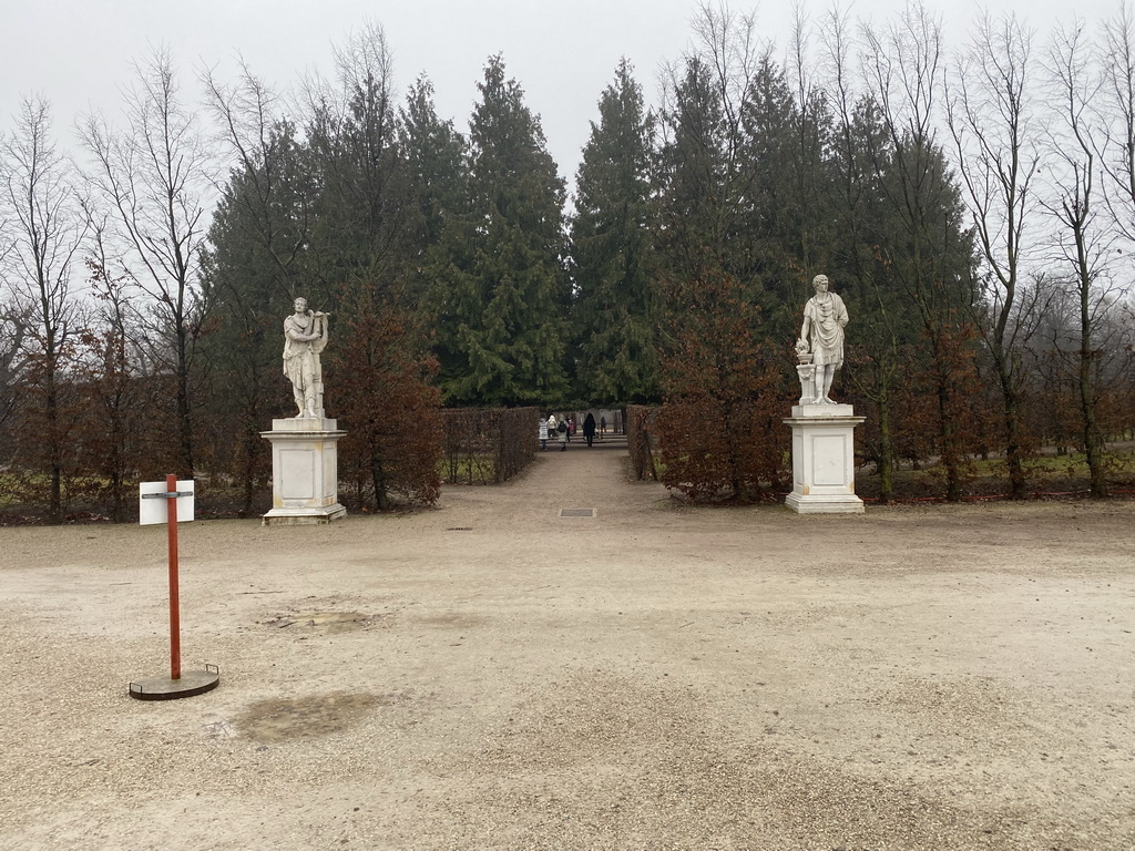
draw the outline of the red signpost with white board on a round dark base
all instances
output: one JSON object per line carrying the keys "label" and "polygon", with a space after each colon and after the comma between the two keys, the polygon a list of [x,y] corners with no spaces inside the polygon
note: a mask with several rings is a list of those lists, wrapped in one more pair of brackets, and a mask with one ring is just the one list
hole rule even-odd
{"label": "red signpost with white board on a round dark base", "polygon": [[[165,505],[161,504],[162,500]],[[190,698],[216,689],[220,671],[205,665],[204,671],[182,673],[182,623],[178,600],[177,524],[193,520],[193,480],[142,482],[138,486],[138,524],[165,523],[169,540],[169,676],[151,676],[131,682],[131,697],[137,700]]]}

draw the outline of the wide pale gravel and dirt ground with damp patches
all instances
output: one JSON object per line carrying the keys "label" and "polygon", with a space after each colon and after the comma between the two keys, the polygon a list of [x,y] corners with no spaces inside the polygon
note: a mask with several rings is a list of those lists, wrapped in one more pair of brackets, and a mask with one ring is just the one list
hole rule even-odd
{"label": "wide pale gravel and dirt ground with damp patches", "polygon": [[[690,509],[581,441],[437,511],[0,529],[0,848],[1135,846],[1135,504]],[[594,516],[561,516],[562,509]]]}

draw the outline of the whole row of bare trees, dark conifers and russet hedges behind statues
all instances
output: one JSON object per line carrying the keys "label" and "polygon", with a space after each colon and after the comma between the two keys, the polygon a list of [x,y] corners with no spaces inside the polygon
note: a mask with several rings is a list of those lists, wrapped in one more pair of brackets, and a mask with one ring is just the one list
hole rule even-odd
{"label": "whole row of bare trees, dark conifers and russet hedges behind statues", "polygon": [[195,472],[251,509],[303,295],[333,314],[326,408],[363,505],[436,499],[439,406],[628,403],[662,406],[679,486],[755,498],[824,272],[884,499],[932,457],[959,498],[982,453],[1023,496],[1042,444],[1085,450],[1103,495],[1135,421],[1135,28],[1095,27],[983,20],[948,51],[924,8],[833,14],[781,62],[704,8],[656,106],[614,69],[571,203],[501,57],[459,130],[427,78],[395,93],[377,26],[288,96],[205,76],[205,111],[159,50],[123,126],[81,123],[79,163],[28,99],[0,149],[6,490],[59,520],[83,488]]}

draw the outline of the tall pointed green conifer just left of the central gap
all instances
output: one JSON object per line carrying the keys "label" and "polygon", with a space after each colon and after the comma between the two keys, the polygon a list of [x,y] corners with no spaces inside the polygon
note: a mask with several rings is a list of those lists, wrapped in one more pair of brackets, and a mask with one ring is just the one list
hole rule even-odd
{"label": "tall pointed green conifer just left of the central gap", "polygon": [[431,253],[446,404],[548,404],[568,390],[563,182],[499,57],[470,124],[464,213]]}

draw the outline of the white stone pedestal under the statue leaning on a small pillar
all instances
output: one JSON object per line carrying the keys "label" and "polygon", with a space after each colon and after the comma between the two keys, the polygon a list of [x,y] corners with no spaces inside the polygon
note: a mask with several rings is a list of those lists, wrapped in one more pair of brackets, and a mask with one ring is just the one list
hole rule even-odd
{"label": "white stone pedestal under the statue leaning on a small pillar", "polygon": [[798,514],[863,514],[855,495],[855,427],[851,405],[793,405],[792,492],[784,504]]}

